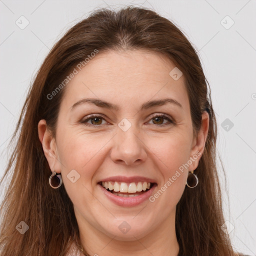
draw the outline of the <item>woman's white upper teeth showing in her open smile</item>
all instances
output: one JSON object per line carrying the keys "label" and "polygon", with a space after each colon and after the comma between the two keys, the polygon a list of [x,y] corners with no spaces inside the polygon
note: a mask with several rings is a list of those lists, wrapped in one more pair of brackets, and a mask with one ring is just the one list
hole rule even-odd
{"label": "woman's white upper teeth showing in her open smile", "polygon": [[117,181],[102,181],[101,182],[102,186],[105,187],[106,189],[108,188],[109,190],[114,190],[115,192],[124,192],[124,193],[135,193],[135,192],[140,192],[142,190],[149,189],[150,187],[150,182],[131,182],[131,183],[126,183],[126,182],[117,182]]}

